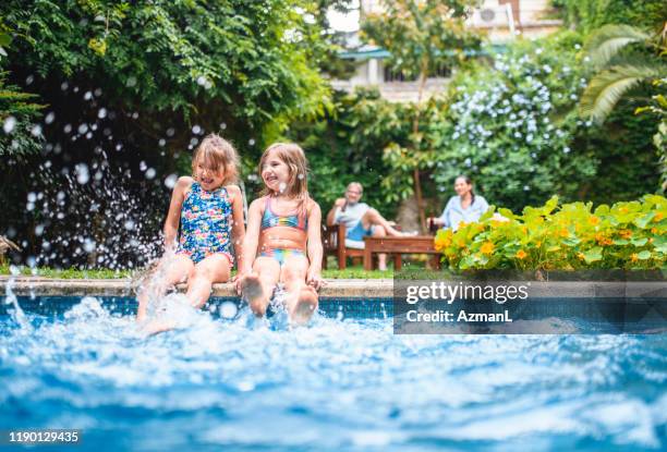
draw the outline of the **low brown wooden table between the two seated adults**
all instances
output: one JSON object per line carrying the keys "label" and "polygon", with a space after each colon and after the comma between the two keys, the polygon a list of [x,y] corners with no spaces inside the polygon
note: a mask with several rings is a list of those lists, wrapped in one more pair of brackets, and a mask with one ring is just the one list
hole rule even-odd
{"label": "low brown wooden table between the two seated adults", "polygon": [[435,251],[433,235],[413,235],[407,237],[364,237],[364,270],[373,270],[373,254],[393,255],[393,269],[402,267],[401,254],[432,254],[432,266],[440,268],[440,254]]}

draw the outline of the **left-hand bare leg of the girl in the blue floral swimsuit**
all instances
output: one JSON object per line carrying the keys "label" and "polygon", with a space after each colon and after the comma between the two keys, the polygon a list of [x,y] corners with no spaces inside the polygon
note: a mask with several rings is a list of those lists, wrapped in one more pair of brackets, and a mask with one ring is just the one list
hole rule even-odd
{"label": "left-hand bare leg of the girl in the blue floral swimsuit", "polygon": [[136,319],[143,321],[146,318],[146,308],[148,307],[148,302],[151,296],[155,298],[162,297],[169,288],[186,280],[193,270],[193,261],[183,254],[162,258],[157,271],[151,274],[144,286],[140,289],[137,295],[138,309],[136,311]]}

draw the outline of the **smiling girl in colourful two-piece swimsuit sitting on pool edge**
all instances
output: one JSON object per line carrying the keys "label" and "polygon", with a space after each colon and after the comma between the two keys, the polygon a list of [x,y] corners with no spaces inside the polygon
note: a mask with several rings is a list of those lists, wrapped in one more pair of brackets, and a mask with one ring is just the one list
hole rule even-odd
{"label": "smiling girl in colourful two-piece swimsuit sitting on pool edge", "polygon": [[264,151],[259,175],[264,196],[248,210],[238,290],[256,316],[264,316],[278,282],[287,292],[290,321],[306,322],[317,308],[322,280],[322,212],[308,195],[303,149],[278,143]]}

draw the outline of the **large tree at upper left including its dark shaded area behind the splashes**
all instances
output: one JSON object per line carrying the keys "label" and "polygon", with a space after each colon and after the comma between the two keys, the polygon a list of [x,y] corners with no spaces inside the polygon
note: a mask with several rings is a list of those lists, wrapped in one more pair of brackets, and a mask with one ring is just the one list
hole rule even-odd
{"label": "large tree at upper left including its dark shaded area behind the splashes", "polygon": [[190,171],[205,134],[232,141],[247,172],[289,121],[326,111],[317,14],[306,0],[0,2],[13,37],[8,84],[48,106],[37,114],[43,152],[0,159],[0,204],[14,206],[0,232],[25,257],[47,244],[46,264],[89,264],[84,234],[109,251],[95,265],[145,261],[150,253],[132,243],[157,236],[169,181]]}

